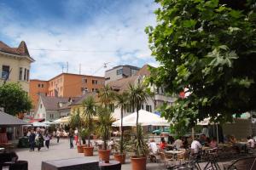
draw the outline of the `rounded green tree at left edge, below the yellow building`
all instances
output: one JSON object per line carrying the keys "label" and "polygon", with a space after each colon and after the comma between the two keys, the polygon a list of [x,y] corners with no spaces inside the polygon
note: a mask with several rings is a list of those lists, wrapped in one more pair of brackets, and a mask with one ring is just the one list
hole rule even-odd
{"label": "rounded green tree at left edge, below the yellow building", "polygon": [[5,83],[0,86],[0,107],[4,112],[15,116],[32,109],[32,101],[18,83]]}

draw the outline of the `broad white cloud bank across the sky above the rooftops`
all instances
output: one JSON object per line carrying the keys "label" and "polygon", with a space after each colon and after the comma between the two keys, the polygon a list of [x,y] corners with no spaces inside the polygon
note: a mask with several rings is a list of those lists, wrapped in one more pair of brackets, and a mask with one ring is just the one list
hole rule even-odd
{"label": "broad white cloud bank across the sky above the rooftops", "polygon": [[[47,26],[50,23],[24,26],[10,22],[3,26],[1,33],[16,45],[21,40],[26,41],[30,54],[36,60],[32,64],[32,78],[54,77],[61,73],[62,65],[66,67],[67,62],[69,72],[79,73],[81,64],[83,74],[103,76],[105,62],[137,66],[151,62],[154,65],[148,49],[148,36],[144,33],[145,26],[154,25],[154,8],[153,3],[136,3],[122,14],[102,14],[90,24],[84,22],[76,26]],[[12,15],[10,11],[4,12]],[[2,23],[6,20],[0,20]],[[71,51],[34,50],[42,48]]]}

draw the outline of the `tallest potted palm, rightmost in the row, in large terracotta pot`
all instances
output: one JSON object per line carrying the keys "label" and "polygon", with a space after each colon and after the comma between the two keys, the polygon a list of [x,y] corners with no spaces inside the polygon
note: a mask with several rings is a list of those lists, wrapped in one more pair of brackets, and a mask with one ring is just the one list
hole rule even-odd
{"label": "tallest potted palm, rightmost in the row, in large terracotta pot", "polygon": [[134,156],[131,156],[131,167],[132,170],[145,170],[148,156],[148,146],[144,141],[143,128],[138,123],[138,112],[141,109],[143,103],[147,102],[148,93],[146,87],[141,83],[138,83],[137,86],[133,86],[130,84],[129,98],[133,109],[137,111],[137,133],[132,143],[132,148],[134,149]]}

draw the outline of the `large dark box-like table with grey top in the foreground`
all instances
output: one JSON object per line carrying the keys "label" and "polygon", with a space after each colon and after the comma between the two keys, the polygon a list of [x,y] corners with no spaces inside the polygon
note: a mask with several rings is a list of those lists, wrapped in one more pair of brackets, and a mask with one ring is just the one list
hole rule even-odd
{"label": "large dark box-like table with grey top in the foreground", "polygon": [[62,159],[53,161],[42,161],[41,170],[98,170],[98,161],[88,161],[85,157]]}

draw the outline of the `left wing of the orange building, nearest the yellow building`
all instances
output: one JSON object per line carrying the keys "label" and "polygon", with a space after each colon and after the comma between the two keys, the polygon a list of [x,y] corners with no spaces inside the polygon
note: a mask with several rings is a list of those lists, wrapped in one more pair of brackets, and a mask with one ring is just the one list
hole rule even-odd
{"label": "left wing of the orange building, nearest the yellow building", "polygon": [[29,95],[32,99],[33,108],[38,105],[38,94],[48,94],[48,81],[30,80]]}

